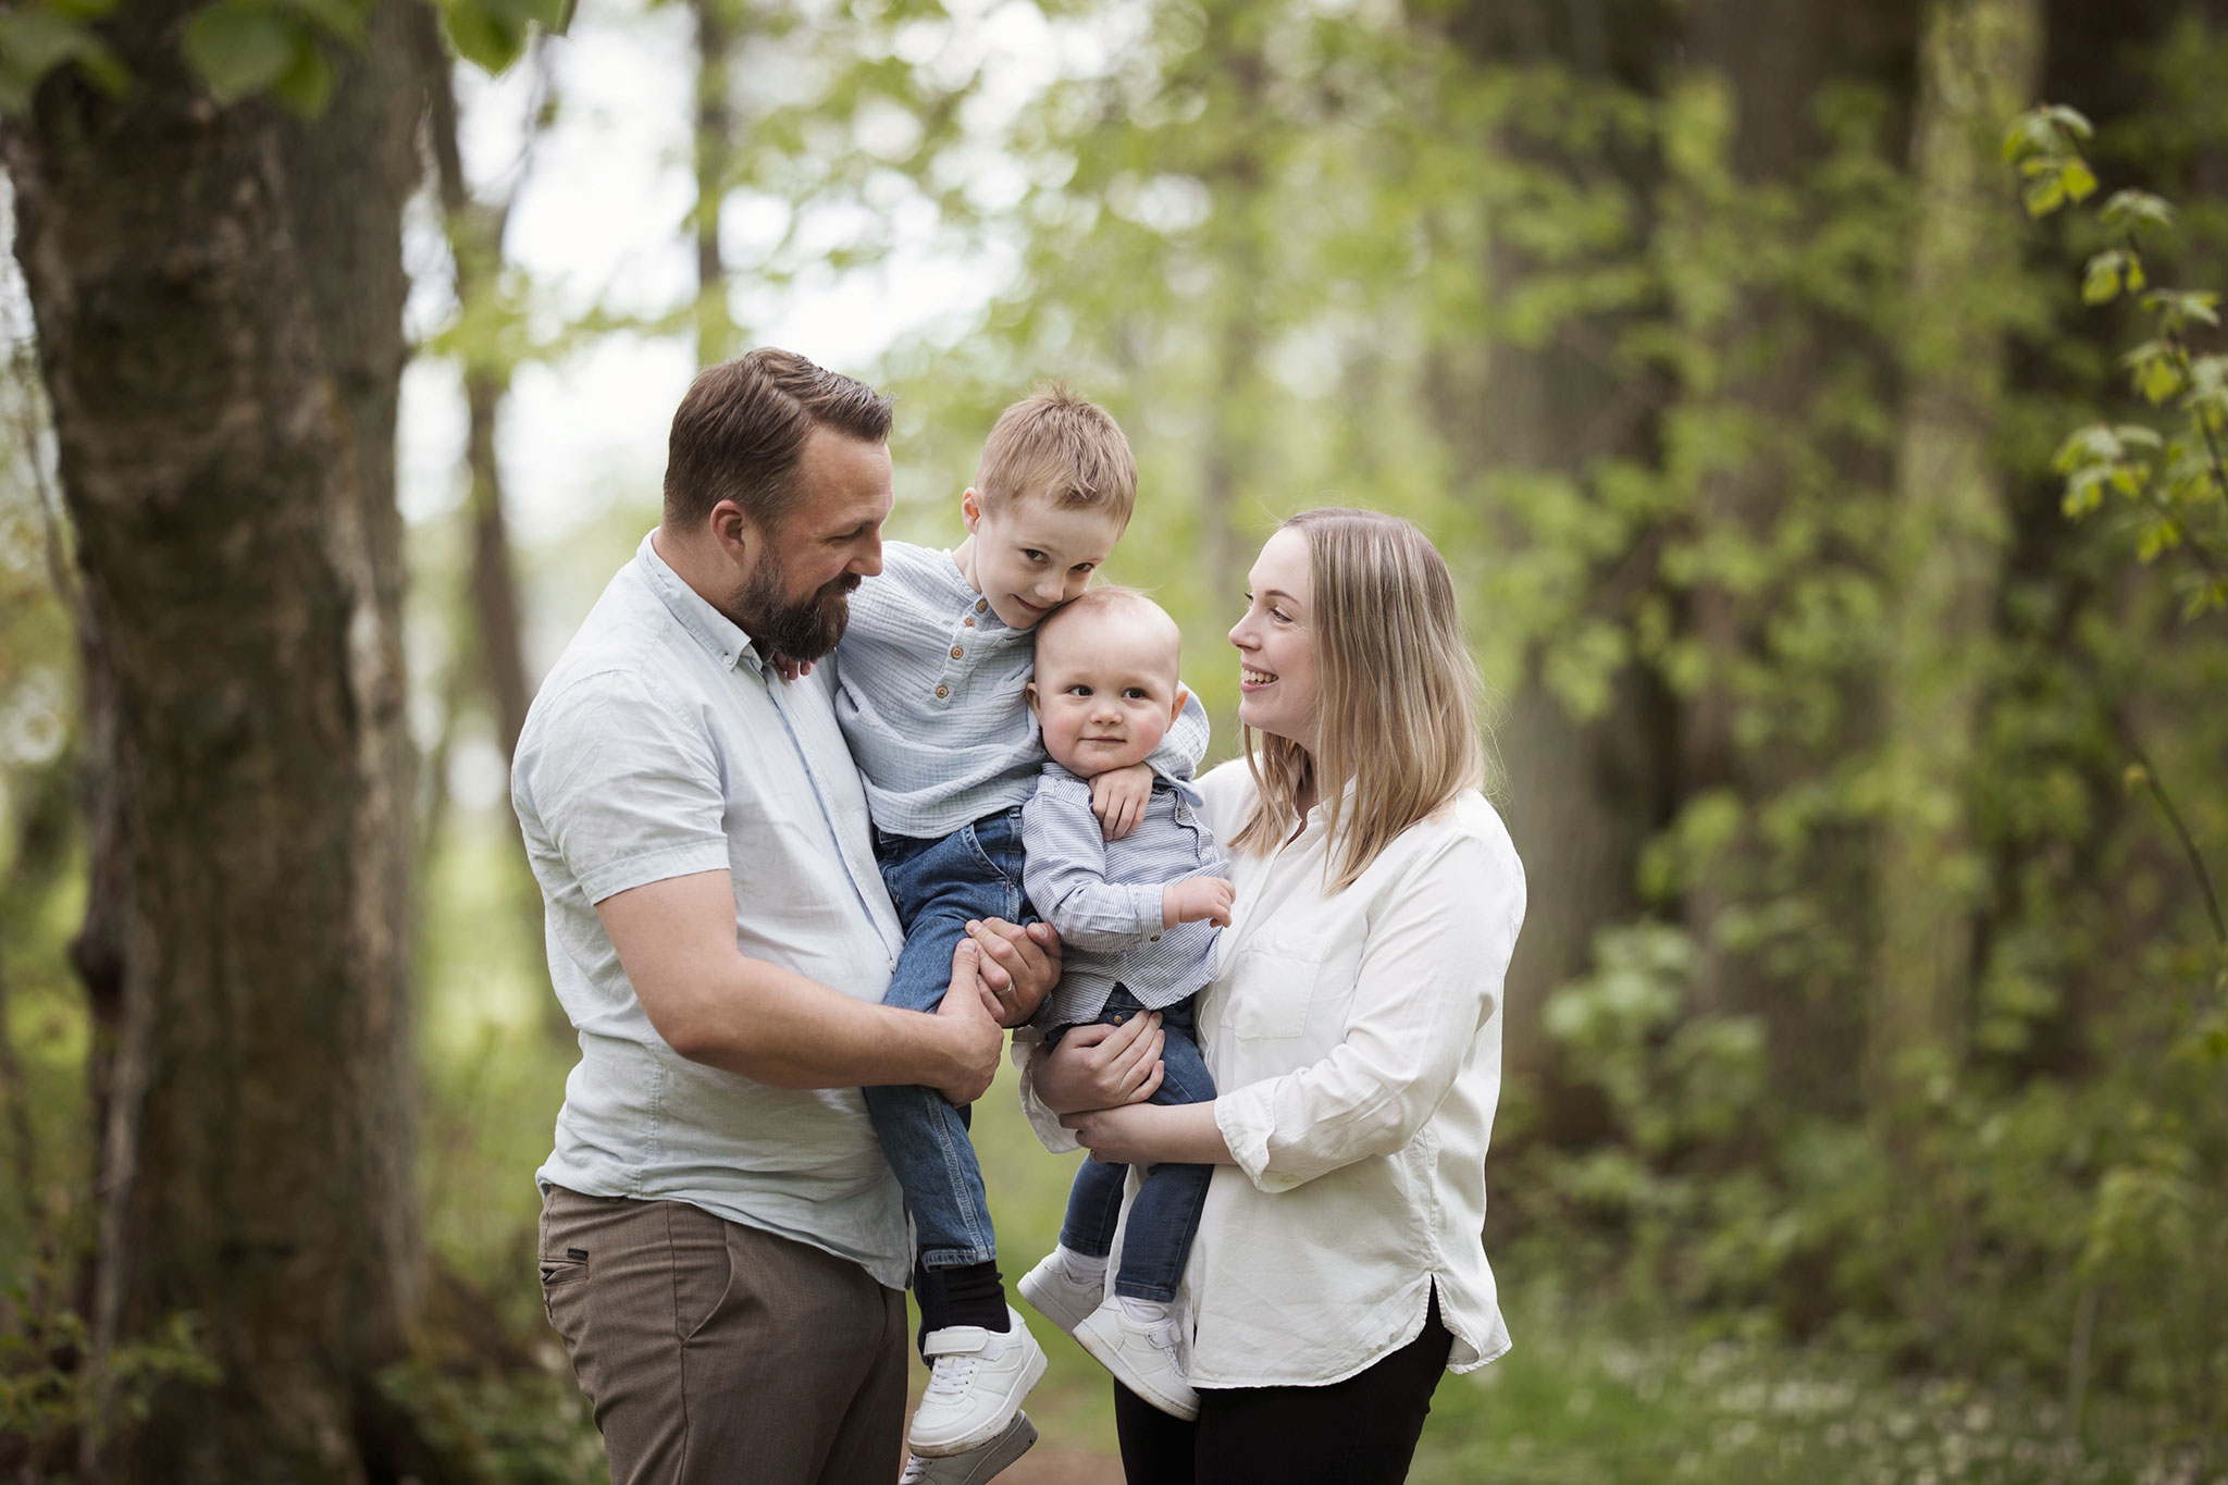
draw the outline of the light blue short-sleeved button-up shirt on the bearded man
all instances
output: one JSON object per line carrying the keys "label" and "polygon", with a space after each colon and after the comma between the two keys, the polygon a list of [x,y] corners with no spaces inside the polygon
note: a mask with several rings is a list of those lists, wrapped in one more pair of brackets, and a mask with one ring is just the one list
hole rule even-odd
{"label": "light blue short-sleeved button-up shirt on the bearded man", "polygon": [[537,1180],[671,1200],[809,1242],[902,1289],[905,1198],[858,1089],[771,1089],[677,1055],[595,904],[726,871],[735,942],[880,1002],[905,935],[873,864],[827,668],[782,681],[648,537],[541,684],[510,770],[579,1064]]}

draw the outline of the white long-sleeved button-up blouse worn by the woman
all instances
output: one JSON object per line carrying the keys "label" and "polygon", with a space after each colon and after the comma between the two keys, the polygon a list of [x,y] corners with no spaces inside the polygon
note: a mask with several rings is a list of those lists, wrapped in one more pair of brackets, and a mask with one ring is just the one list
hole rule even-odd
{"label": "white long-sleeved button-up blouse worn by the woman", "polygon": [[[1254,799],[1245,761],[1199,788],[1228,842]],[[1328,846],[1315,810],[1274,855],[1230,855],[1199,1040],[1237,1169],[1214,1171],[1183,1278],[1196,1387],[1348,1378],[1421,1334],[1433,1289],[1453,1371],[1508,1349],[1482,1229],[1524,866],[1475,790],[1343,893],[1326,893]]]}

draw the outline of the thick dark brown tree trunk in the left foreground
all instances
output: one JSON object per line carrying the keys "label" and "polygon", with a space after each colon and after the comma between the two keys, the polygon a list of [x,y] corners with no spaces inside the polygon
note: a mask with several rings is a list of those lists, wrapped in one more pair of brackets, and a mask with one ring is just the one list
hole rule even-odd
{"label": "thick dark brown tree trunk in the left foreground", "polygon": [[[221,1371],[109,1398],[85,1474],[361,1481],[417,1273],[394,403],[401,11],[316,120],[216,107],[187,0],[7,134],[85,597],[114,684],[123,1015],[96,1358],[198,1316]],[[116,904],[105,904],[116,906]]]}

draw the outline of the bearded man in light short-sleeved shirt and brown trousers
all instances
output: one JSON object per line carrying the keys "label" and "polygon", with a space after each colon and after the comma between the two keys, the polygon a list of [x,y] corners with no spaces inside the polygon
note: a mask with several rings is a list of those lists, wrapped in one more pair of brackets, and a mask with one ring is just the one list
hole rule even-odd
{"label": "bearded man in light short-sleeved shirt and brown trousers", "polygon": [[902,933],[829,677],[769,663],[827,655],[880,572],[887,436],[887,399],[789,352],[697,376],[664,519],[519,737],[582,1044],[544,1305],[615,1485],[889,1481],[911,1242],[858,1089],[978,1098],[1058,980],[1049,928],[987,924],[936,1015],[880,1004]]}

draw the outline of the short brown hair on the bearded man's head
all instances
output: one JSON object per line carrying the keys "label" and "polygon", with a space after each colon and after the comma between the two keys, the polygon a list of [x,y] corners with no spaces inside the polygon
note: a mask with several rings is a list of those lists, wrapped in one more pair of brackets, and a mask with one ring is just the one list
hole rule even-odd
{"label": "short brown hair on the bearded man's head", "polygon": [[815,427],[882,443],[889,399],[786,350],[704,367],[666,439],[666,525],[697,525],[720,501],[735,501],[760,530],[778,528],[795,505],[798,461]]}

